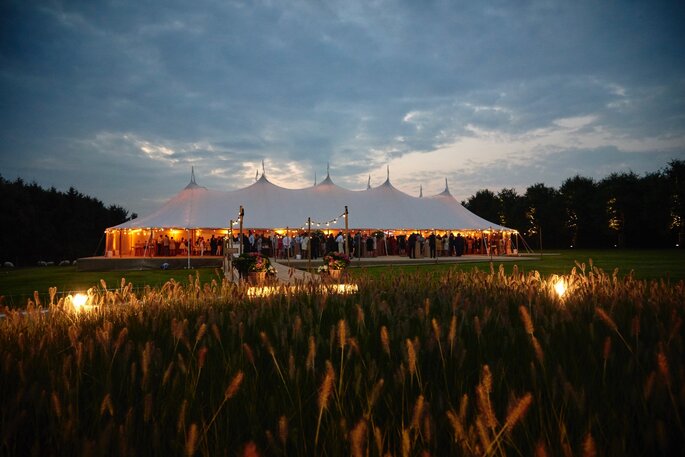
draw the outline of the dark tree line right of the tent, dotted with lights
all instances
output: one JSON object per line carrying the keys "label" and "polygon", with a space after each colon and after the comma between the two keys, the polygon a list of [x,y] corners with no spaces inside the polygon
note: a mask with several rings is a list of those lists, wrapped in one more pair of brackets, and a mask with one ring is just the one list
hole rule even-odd
{"label": "dark tree line right of the tent, dotted with lights", "polygon": [[658,172],[612,173],[595,181],[574,176],[555,189],[538,183],[479,190],[462,204],[473,213],[516,229],[534,249],[665,248],[685,242],[685,161]]}

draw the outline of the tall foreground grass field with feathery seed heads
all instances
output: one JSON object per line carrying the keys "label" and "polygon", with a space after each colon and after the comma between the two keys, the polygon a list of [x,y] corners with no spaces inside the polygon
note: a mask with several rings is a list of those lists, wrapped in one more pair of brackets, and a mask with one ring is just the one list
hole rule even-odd
{"label": "tall foreground grass field with feathery seed heads", "polygon": [[512,269],[6,309],[0,454],[682,455],[684,283]]}

